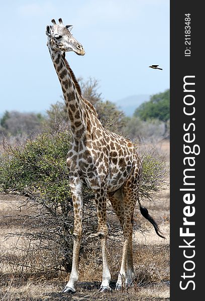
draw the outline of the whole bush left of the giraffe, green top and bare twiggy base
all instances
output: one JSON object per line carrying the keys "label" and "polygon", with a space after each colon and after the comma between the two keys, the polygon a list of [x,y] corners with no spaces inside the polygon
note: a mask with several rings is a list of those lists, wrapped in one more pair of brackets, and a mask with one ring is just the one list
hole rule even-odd
{"label": "whole bush left of the giraffe, green top and bare twiggy base", "polygon": [[[0,192],[28,196],[30,200],[28,216],[25,220],[21,218],[22,224],[31,231],[14,233],[28,241],[25,252],[52,253],[50,257],[55,260],[50,264],[55,269],[63,265],[66,270],[71,267],[73,232],[72,199],[66,169],[70,141],[71,132],[65,129],[39,134],[23,145],[12,146],[5,141],[6,151],[1,155],[0,164]],[[90,199],[93,194],[85,189],[84,208],[90,206]],[[21,206],[27,203],[25,201]],[[85,211],[84,227],[89,233],[97,224],[87,224],[92,212]],[[19,218],[18,211],[17,216]],[[38,248],[34,250],[32,243]]]}

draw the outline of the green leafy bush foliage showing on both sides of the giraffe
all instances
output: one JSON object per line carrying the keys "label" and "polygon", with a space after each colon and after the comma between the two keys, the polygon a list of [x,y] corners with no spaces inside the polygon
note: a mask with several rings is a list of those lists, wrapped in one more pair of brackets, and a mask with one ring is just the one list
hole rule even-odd
{"label": "green leafy bush foliage showing on both sides of the giraffe", "polygon": [[[71,202],[69,174],[65,164],[70,141],[69,130],[58,130],[27,140],[24,146],[10,145],[2,155],[0,192],[28,195],[48,204]],[[143,152],[142,162],[140,194],[149,199],[153,192],[160,190],[166,166],[154,149]],[[92,195],[88,190],[85,192]]]}

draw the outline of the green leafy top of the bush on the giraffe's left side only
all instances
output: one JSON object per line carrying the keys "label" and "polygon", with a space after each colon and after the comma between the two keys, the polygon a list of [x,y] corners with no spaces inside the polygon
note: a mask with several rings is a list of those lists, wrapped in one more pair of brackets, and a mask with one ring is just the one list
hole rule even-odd
{"label": "green leafy top of the bush on the giraffe's left side only", "polygon": [[68,130],[38,135],[2,155],[1,191],[59,202],[70,198],[65,166],[70,144]]}

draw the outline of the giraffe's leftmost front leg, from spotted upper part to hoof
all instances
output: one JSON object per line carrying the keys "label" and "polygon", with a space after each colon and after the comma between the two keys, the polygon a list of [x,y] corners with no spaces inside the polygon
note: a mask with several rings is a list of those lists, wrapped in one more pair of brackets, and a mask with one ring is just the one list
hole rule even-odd
{"label": "giraffe's leftmost front leg, from spotted upper part to hoof", "polygon": [[72,270],[68,283],[62,292],[74,293],[75,284],[78,280],[78,259],[80,250],[80,241],[82,237],[82,189],[83,184],[79,179],[75,179],[74,184],[71,184],[70,189],[73,201],[74,211],[74,229],[73,229],[73,258],[72,258]]}

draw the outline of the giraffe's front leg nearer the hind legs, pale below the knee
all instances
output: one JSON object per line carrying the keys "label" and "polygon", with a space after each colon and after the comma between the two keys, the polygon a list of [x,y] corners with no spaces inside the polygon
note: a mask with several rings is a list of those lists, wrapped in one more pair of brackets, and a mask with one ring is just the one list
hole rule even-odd
{"label": "giraffe's front leg nearer the hind legs, pale below the knee", "polygon": [[100,189],[95,191],[95,202],[97,207],[97,219],[98,219],[98,237],[101,245],[102,252],[102,282],[100,285],[100,292],[111,291],[110,280],[111,274],[109,270],[108,263],[108,251],[107,251],[107,237],[108,237],[108,227],[106,219],[106,208],[107,208],[107,199],[106,199],[106,189]]}

